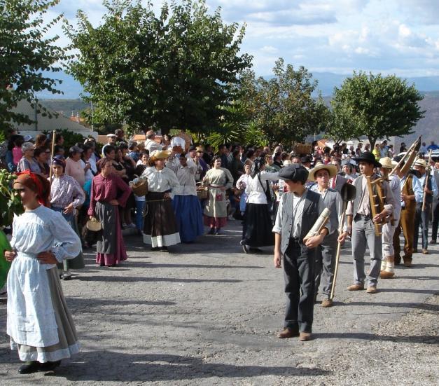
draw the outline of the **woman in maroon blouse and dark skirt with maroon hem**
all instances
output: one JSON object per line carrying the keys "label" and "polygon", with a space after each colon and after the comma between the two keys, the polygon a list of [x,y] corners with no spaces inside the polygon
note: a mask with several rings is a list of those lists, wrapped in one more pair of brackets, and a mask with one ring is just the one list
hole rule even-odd
{"label": "woman in maroon blouse and dark skirt with maroon hem", "polygon": [[96,243],[96,263],[100,266],[116,266],[127,259],[127,250],[120,228],[118,206],[124,207],[131,189],[116,175],[111,158],[103,158],[101,172],[92,181],[88,215],[102,223]]}

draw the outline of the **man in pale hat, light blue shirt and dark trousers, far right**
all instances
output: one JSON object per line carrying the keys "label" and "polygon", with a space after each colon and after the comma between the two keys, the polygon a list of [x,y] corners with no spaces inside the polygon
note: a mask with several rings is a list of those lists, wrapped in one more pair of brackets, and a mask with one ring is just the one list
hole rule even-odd
{"label": "man in pale hat, light blue shirt and dark trousers, far right", "polygon": [[[433,198],[438,197],[438,186],[432,176],[428,176],[427,184],[426,180],[426,160],[418,158],[414,161],[413,169],[418,173],[419,183],[422,186],[422,195],[416,195],[416,213],[414,216],[414,237],[413,237],[413,251],[417,252],[418,238],[419,238],[419,226],[421,226],[422,235],[422,254],[428,254],[428,221],[430,221],[431,204]],[[422,210],[423,202],[425,198],[425,207]]]}

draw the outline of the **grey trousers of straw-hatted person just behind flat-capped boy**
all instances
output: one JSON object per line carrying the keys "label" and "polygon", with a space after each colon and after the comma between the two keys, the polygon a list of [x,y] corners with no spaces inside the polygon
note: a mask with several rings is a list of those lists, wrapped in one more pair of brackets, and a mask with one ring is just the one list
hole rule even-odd
{"label": "grey trousers of straw-hatted person just behind flat-capped boy", "polygon": [[322,294],[325,298],[329,298],[330,291],[333,288],[335,254],[337,253],[338,232],[327,235],[323,242],[317,247],[316,254],[316,279],[315,290],[319,293],[320,282],[323,282]]}

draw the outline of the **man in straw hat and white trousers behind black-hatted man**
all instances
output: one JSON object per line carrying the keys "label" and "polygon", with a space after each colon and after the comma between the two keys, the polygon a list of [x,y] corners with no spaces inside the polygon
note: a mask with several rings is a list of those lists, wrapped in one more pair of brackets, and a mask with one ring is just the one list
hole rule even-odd
{"label": "man in straw hat and white trousers behind black-hatted man", "polygon": [[382,262],[380,277],[382,279],[389,279],[395,275],[395,251],[393,249],[393,235],[395,233],[396,226],[398,226],[401,213],[401,202],[398,200],[398,198],[401,196],[401,188],[398,176],[396,174],[389,176],[389,173],[393,167],[397,165],[397,163],[392,161],[389,157],[381,158],[379,163],[381,164],[381,175],[386,181],[389,181],[393,198],[395,198],[395,202],[393,204],[393,219],[386,222],[382,226]]}

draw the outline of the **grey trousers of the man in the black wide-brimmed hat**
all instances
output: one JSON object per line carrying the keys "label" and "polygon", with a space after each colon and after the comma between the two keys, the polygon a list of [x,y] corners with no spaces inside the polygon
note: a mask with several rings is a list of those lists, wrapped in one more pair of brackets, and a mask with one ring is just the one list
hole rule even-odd
{"label": "grey trousers of the man in the black wide-brimmed hat", "polygon": [[366,246],[370,253],[368,287],[376,286],[382,260],[382,238],[375,235],[375,226],[369,216],[357,214],[352,221],[352,258],[354,259],[354,283],[364,285],[364,255]]}

